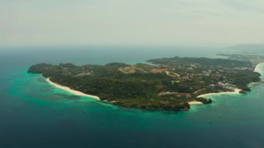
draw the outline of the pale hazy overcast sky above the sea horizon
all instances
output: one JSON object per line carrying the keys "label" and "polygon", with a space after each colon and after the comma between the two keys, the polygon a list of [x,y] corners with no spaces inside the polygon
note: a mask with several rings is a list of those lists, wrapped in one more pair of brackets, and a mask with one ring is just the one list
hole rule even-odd
{"label": "pale hazy overcast sky above the sea horizon", "polygon": [[0,45],[264,43],[263,0],[0,0]]}

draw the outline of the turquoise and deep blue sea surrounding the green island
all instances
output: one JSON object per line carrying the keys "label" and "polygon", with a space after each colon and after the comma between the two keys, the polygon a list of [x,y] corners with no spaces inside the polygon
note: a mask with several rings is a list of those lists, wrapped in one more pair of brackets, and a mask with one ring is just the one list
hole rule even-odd
{"label": "turquoise and deep blue sea surrounding the green island", "polygon": [[[39,74],[26,72],[35,63],[144,63],[151,58],[173,56],[217,58],[216,53],[226,51],[181,47],[2,47],[0,147],[264,147],[264,83],[253,85],[247,95],[210,96],[213,104],[193,105],[188,112],[149,111],[77,97],[49,85]],[[264,75],[264,64],[260,68]]]}

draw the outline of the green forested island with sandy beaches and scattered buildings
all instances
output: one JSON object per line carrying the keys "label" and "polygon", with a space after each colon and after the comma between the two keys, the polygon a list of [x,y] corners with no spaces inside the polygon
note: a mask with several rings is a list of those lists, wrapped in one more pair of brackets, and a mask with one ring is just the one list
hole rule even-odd
{"label": "green forested island with sandy beaches and scattered buildings", "polygon": [[254,56],[247,60],[240,60],[237,55],[221,56],[229,58],[176,56],[135,65],[40,63],[31,66],[28,72],[42,74],[49,83],[118,106],[147,110],[189,110],[192,103],[212,103],[211,99],[201,94],[235,91],[247,94],[250,91],[249,83],[261,81],[261,75],[254,72],[254,68],[263,60],[251,60],[256,59]]}

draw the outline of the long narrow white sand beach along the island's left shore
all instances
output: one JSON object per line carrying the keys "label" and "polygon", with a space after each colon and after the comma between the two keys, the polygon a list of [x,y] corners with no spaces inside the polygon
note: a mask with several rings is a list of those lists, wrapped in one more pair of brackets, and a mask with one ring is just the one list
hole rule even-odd
{"label": "long narrow white sand beach along the island's left shore", "polygon": [[100,100],[100,98],[97,97],[97,96],[93,96],[93,95],[90,95],[90,94],[85,94],[85,93],[83,93],[83,92],[79,92],[79,91],[77,91],[77,90],[72,90],[71,88],[68,88],[68,87],[66,87],[66,86],[59,85],[59,84],[57,84],[57,83],[53,83],[49,78],[47,78],[46,81],[47,81],[47,83],[49,83],[50,85],[55,86],[56,88],[60,88],[61,90],[65,90],[65,91],[67,91],[67,92],[71,92],[72,94],[75,94],[75,95],[77,95],[77,96],[90,97],[90,98],[92,98],[92,99],[98,99],[98,100]]}

